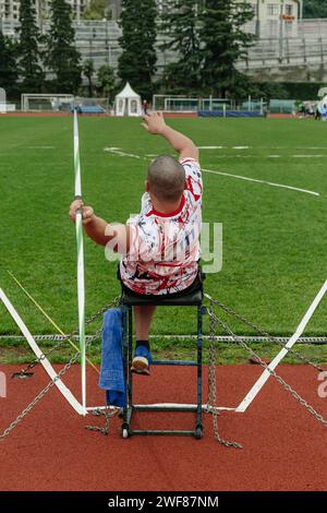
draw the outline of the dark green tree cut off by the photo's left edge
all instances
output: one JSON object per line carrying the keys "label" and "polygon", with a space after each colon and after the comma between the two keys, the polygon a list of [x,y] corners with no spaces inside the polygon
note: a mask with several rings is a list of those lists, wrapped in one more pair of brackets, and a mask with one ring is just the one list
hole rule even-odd
{"label": "dark green tree cut off by the photo's left edge", "polygon": [[5,90],[8,97],[16,94],[16,45],[0,31],[0,87]]}

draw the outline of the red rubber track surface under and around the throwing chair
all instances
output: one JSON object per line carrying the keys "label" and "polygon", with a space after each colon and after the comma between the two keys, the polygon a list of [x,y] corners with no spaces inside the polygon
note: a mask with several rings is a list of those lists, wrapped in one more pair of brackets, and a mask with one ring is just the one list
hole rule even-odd
{"label": "red rubber track surface under and around the throwing chair", "polygon": [[[28,380],[10,379],[14,370],[19,368],[0,367],[8,375],[8,397],[0,398],[1,432],[48,383],[41,368]],[[318,397],[320,382],[314,369],[280,366],[278,370],[327,416],[327,398]],[[258,366],[218,367],[219,405],[237,406],[261,371]],[[206,368],[204,373],[206,394]],[[64,381],[75,390],[78,380],[80,368],[74,366]],[[88,398],[98,406],[104,393],[92,370],[88,380]],[[150,377],[136,377],[134,383],[138,404],[195,402],[192,368],[156,367]],[[193,429],[193,414],[138,413],[133,427]],[[202,440],[136,436],[123,440],[118,418],[111,421],[109,437],[84,429],[87,423],[102,426],[102,420],[80,417],[52,389],[0,443],[0,489],[326,490],[327,430],[271,378],[244,414],[219,417],[220,434],[242,443],[243,450],[226,449],[214,440],[209,415],[204,416]]]}

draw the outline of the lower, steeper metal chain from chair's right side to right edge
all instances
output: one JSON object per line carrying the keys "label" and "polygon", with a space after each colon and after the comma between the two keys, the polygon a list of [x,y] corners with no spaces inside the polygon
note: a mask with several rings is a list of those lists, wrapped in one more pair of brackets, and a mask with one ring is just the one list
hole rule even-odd
{"label": "lower, steeper metal chain from chair's right side to right edge", "polygon": [[230,336],[233,337],[234,342],[238,342],[244,349],[246,349],[258,361],[258,363],[264,367],[264,369],[266,369],[279,384],[283,386],[284,390],[287,390],[302,406],[304,406],[316,420],[318,420],[325,428],[327,428],[327,420],[320,414],[318,414],[311,404],[308,404],[300,394],[298,394],[298,392],[291,385],[289,385],[279,374],[277,374],[275,370],[270,369],[269,366],[251,347],[249,347],[247,344],[245,344],[245,342],[242,341],[241,337],[235,335],[223,321],[218,319],[218,317],[213,311],[209,312],[209,315],[213,315],[216,323],[219,324],[227,333],[229,333]]}

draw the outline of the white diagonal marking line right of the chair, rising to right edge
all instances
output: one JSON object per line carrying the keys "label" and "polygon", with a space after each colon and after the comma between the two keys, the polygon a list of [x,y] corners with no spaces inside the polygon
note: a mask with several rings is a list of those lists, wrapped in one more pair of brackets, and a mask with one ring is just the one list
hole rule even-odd
{"label": "white diagonal marking line right of the chair, rising to right edge", "polygon": [[250,392],[246,394],[244,399],[241,402],[241,404],[238,406],[235,411],[238,413],[244,413],[245,409],[250,406],[252,401],[255,398],[255,396],[258,394],[258,392],[262,390],[266,381],[270,378],[270,372],[276,369],[276,367],[280,363],[280,361],[284,358],[284,356],[288,354],[288,349],[293,347],[293,345],[298,342],[300,336],[302,335],[306,324],[311,320],[312,315],[314,314],[316,308],[318,307],[319,302],[322,301],[323,297],[325,296],[327,290],[327,279],[324,283],[323,287],[318,291],[317,296],[313,300],[312,305],[310,306],[308,310],[304,314],[302,321],[300,322],[299,326],[296,327],[295,333],[287,345],[278,353],[278,355],[274,358],[274,360],[268,365],[267,369],[264,370],[259,379],[256,381],[256,383],[252,386]]}

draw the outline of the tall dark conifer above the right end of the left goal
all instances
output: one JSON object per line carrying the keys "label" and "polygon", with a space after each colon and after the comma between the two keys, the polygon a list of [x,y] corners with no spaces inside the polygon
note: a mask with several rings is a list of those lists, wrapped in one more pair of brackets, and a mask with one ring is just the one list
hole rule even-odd
{"label": "tall dark conifer above the right end of the left goal", "polygon": [[55,92],[75,94],[82,82],[81,56],[75,48],[72,9],[65,0],[51,1],[47,50],[46,64],[55,74]]}

